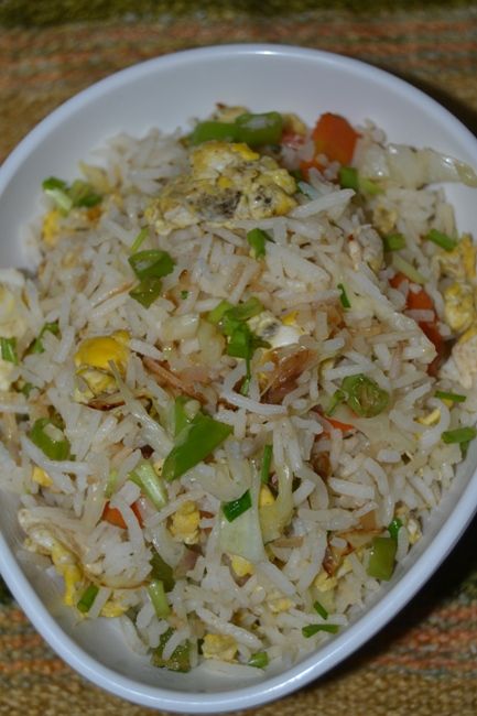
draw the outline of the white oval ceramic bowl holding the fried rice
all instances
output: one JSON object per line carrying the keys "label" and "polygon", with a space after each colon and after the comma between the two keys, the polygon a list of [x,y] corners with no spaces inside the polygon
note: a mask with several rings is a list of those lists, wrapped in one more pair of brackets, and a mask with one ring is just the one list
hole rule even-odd
{"label": "white oval ceramic bowl holding the fried rice", "polygon": [[[253,111],[294,111],[313,123],[322,111],[353,122],[371,118],[390,141],[440,149],[477,165],[477,141],[435,101],[379,69],[349,58],[274,45],[192,50],[122,70],[47,117],[0,171],[0,264],[26,265],[21,225],[39,213],[47,175],[66,178],[90,150],[119,132],[187,128],[215,102]],[[476,192],[452,186],[458,227],[474,225]],[[381,629],[426,582],[456,543],[477,505],[477,451],[470,449],[452,490],[425,525],[405,564],[346,630],[282,673],[230,680],[202,672],[153,669],[132,653],[110,620],[74,623],[58,586],[19,557],[18,500],[1,495],[0,567],[18,601],[56,652],[84,676],[132,702],[172,712],[212,714],[279,698],[324,674]]]}

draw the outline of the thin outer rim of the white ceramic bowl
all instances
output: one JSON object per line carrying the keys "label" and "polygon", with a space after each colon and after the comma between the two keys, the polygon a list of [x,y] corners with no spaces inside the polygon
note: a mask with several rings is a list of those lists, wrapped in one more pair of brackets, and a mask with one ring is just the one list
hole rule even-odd
{"label": "thin outer rim of the white ceramic bowl", "polygon": [[[75,111],[94,102],[105,89],[115,89],[124,82],[142,77],[158,67],[187,65],[200,59],[221,59],[234,56],[279,56],[306,59],[327,66],[339,66],[357,72],[361,77],[386,80],[398,94],[415,98],[424,107],[440,115],[440,121],[446,129],[458,130],[464,142],[474,143],[477,159],[477,140],[456,117],[445,107],[427,96],[418,87],[395,75],[369,65],[360,59],[336,53],[271,43],[232,43],[197,48],[182,50],[137,63],[107,76],[71,99],[59,105],[35,128],[33,128],[8,155],[0,167],[0,194],[14,176],[17,170],[26,160],[31,151],[41,144],[43,138],[61,124]],[[356,622],[324,646],[306,657],[302,662],[288,669],[284,673],[259,680],[257,683],[239,690],[228,688],[217,693],[180,692],[161,686],[140,684],[123,676],[90,657],[82,647],[63,631],[56,619],[47,611],[40,597],[31,586],[28,577],[13,555],[0,531],[0,571],[17,601],[32,621],[35,629],[64,661],[97,686],[127,701],[170,712],[183,713],[185,709],[196,714],[227,713],[239,708],[251,708],[270,701],[284,697],[293,691],[308,684],[328,672],[333,666],[354,653],[375,636],[386,623],[411,600],[416,592],[444,561],[464,533],[477,509],[477,473],[474,473],[456,502],[445,524],[425,549],[425,561],[419,555],[415,563],[408,568],[399,582],[373,604]],[[451,536],[448,536],[451,535]],[[316,654],[319,653],[319,659]]]}

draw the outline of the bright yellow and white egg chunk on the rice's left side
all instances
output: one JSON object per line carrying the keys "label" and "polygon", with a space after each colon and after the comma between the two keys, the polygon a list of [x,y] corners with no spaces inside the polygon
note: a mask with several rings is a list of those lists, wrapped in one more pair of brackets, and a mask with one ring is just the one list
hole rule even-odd
{"label": "bright yellow and white egg chunk on the rice's left side", "polygon": [[109,336],[86,338],[75,354],[76,375],[83,378],[87,388],[77,390],[75,400],[88,401],[101,393],[113,392],[116,380],[110,372],[109,362],[115,362],[123,376],[129,360],[129,333],[115,330]]}

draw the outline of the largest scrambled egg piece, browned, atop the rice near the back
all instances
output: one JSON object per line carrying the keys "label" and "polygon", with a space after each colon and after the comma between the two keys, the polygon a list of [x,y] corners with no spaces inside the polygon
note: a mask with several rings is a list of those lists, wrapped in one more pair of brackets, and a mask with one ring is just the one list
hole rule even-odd
{"label": "largest scrambled egg piece, browned, atop the rice near the back", "polygon": [[145,218],[167,235],[203,220],[281,216],[296,206],[295,191],[295,180],[270,156],[247,144],[210,141],[192,151],[189,172],[165,184]]}

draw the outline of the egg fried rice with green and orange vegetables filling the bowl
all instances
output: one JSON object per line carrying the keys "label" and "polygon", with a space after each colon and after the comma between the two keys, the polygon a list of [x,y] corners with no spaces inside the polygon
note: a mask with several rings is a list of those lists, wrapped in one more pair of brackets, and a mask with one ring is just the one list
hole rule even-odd
{"label": "egg fried rice with green and orange vegetables filling the bowl", "polygon": [[3,487],[78,619],[289,664],[419,541],[476,436],[476,248],[434,150],[218,106],[43,183],[0,274]]}

